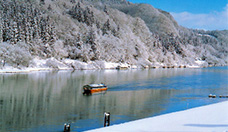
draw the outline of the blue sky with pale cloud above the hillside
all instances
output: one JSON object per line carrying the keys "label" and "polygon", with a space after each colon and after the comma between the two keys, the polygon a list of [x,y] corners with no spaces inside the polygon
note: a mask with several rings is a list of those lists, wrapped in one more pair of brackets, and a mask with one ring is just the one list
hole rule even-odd
{"label": "blue sky with pale cloud above the hillside", "polygon": [[147,3],[170,12],[176,21],[188,28],[228,29],[228,0],[129,0]]}

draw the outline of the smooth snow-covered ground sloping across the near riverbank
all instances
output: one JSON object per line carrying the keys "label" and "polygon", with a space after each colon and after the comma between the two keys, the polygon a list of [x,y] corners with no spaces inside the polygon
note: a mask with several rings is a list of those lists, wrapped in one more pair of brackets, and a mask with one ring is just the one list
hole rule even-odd
{"label": "smooth snow-covered ground sloping across the near riverbank", "polygon": [[136,120],[90,132],[228,132],[228,101]]}

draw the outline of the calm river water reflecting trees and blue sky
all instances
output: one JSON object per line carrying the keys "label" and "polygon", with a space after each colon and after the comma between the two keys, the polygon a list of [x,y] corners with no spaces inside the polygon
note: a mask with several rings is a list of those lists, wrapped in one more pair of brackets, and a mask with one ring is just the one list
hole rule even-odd
{"label": "calm river water reflecting trees and blue sky", "polygon": [[[82,86],[105,83],[84,96]],[[228,67],[52,71],[0,74],[0,131],[72,131],[111,125],[228,100]]]}

